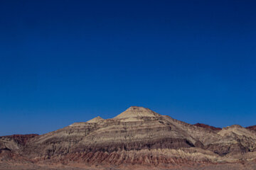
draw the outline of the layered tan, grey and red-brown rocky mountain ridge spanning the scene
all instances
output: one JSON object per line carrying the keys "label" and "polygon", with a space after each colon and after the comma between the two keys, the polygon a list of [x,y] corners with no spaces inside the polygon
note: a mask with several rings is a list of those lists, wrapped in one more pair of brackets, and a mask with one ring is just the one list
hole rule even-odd
{"label": "layered tan, grey and red-brown rocky mountain ridge spanning the scene", "polygon": [[0,137],[0,164],[82,169],[256,167],[255,130],[191,125],[137,106],[114,118],[97,117],[18,141]]}

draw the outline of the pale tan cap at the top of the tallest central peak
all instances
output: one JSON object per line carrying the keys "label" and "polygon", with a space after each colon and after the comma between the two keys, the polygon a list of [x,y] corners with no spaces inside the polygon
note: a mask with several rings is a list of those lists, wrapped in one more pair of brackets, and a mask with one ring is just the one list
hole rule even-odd
{"label": "pale tan cap at the top of the tallest central peak", "polygon": [[160,114],[151,111],[149,108],[131,106],[126,111],[120,113],[115,118],[134,118],[134,117],[159,117]]}

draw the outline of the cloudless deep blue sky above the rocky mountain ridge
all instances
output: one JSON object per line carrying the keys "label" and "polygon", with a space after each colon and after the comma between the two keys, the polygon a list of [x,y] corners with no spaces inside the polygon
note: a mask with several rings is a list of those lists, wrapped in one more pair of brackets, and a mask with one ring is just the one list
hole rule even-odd
{"label": "cloudless deep blue sky above the rocky mountain ridge", "polygon": [[256,125],[255,1],[0,1],[0,135],[144,106]]}

